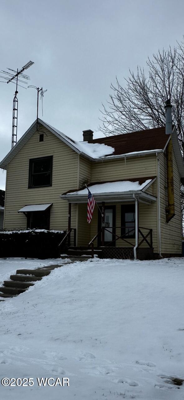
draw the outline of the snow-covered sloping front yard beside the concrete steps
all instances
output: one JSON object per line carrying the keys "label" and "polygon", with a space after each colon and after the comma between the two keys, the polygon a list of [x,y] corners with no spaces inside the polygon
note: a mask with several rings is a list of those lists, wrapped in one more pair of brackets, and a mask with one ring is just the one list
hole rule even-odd
{"label": "snow-covered sloping front yard beside the concrete steps", "polygon": [[[51,262],[0,260],[0,274]],[[169,381],[184,378],[183,282],[183,258],[96,258],[56,268],[1,302],[0,379],[34,385],[0,385],[0,398],[183,399],[184,385]],[[36,377],[67,377],[70,386],[39,387]]]}

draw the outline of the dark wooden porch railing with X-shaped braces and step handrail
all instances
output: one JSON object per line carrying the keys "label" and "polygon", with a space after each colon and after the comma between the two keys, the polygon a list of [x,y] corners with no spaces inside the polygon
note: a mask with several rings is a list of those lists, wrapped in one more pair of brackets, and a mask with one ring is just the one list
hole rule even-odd
{"label": "dark wooden porch railing with X-shaped braces and step handrail", "polygon": [[[121,236],[118,236],[117,234],[115,234],[114,232],[111,232],[109,229],[122,229],[122,228],[127,228],[127,226],[110,226],[109,228],[106,228],[105,226],[103,226],[100,230],[99,230],[99,232],[94,236],[94,238],[90,241],[90,243],[88,244],[88,246],[91,246],[91,255],[92,255],[92,258],[94,258],[94,241],[101,235],[101,233],[102,233],[102,247],[103,246],[110,246],[112,243],[115,243],[117,240],[119,240],[119,239],[121,239],[121,240],[123,240],[124,242],[126,242],[126,243],[128,243],[128,244],[130,244],[130,246],[132,246],[132,247],[134,247],[135,246],[135,244],[132,244],[132,242],[129,242],[128,240],[126,240],[125,239],[125,236],[128,236],[129,235],[129,233],[131,233],[132,231],[134,231],[135,232],[135,228],[132,228],[132,229],[130,229],[128,232],[126,232],[125,234],[123,234],[123,235],[121,235]],[[148,233],[146,234],[146,235],[144,235],[143,234],[143,232],[141,231],[141,229],[145,229],[145,230],[148,230]],[[105,230],[107,231],[107,232],[109,232],[110,234],[112,234],[112,236],[115,236],[115,239],[114,240],[112,240],[111,242],[108,242],[108,244],[104,244],[104,234],[105,234]],[[139,232],[139,234],[143,237],[143,239],[141,240],[141,242],[140,243],[138,243],[138,246],[137,246],[137,248],[138,247],[140,247],[141,246],[141,244],[143,243],[143,242],[146,242],[147,244],[148,244],[148,246],[150,247],[150,248],[152,248],[153,247],[153,230],[152,229],[149,229],[149,228],[143,228],[143,227],[139,227],[139,229],[138,229],[138,232]],[[150,242],[148,241],[148,236],[150,236]],[[134,238],[132,238],[132,239],[134,239]]]}

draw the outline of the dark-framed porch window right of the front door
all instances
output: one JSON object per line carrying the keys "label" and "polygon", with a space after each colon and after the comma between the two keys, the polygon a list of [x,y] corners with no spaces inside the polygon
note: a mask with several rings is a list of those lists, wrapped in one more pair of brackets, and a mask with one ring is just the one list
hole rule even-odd
{"label": "dark-framed porch window right of the front door", "polygon": [[121,206],[121,235],[135,238],[135,204]]}

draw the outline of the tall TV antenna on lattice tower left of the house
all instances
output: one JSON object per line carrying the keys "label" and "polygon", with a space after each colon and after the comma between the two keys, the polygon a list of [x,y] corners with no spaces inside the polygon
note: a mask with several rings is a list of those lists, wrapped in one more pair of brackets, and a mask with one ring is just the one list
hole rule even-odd
{"label": "tall TV antenna on lattice tower left of the house", "polygon": [[[0,75],[0,78],[3,78],[3,81],[0,82],[4,82],[4,83],[14,83],[16,84],[16,91],[15,91],[15,96],[14,96],[14,101],[13,101],[13,122],[12,122],[12,148],[15,146],[15,144],[17,143],[17,122],[18,122],[18,98],[17,98],[17,94],[18,94],[18,90],[17,87],[21,86],[24,89],[24,86],[18,84],[18,82],[21,82],[24,85],[27,85],[27,80],[30,80],[28,75],[23,74],[23,71],[27,70],[29,67],[31,67],[31,65],[33,65],[34,62],[33,61],[28,61],[27,64],[25,64],[20,70],[17,71],[16,70],[12,70],[11,68],[6,68],[7,71],[0,71],[0,73],[2,75]],[[20,79],[21,78],[21,79]],[[16,80],[16,82],[15,82]]]}

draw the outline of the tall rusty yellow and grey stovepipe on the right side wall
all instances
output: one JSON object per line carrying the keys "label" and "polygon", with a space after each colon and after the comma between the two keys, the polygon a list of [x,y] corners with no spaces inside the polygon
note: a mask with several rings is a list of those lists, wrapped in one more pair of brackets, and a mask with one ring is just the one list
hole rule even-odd
{"label": "tall rusty yellow and grey stovepipe on the right side wall", "polygon": [[174,179],[173,179],[173,160],[172,160],[172,106],[170,100],[166,101],[165,106],[165,128],[166,135],[170,135],[170,140],[166,147],[166,168],[167,168],[167,199],[166,222],[168,223],[175,215],[174,213]]}

